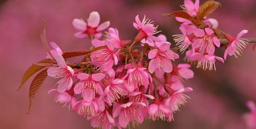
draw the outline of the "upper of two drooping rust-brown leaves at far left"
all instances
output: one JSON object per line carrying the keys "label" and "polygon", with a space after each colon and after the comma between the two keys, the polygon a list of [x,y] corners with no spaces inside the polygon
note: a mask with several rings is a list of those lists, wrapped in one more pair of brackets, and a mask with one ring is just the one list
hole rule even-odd
{"label": "upper of two drooping rust-brown leaves at far left", "polygon": [[[51,63],[50,63],[51,62]],[[47,66],[51,66],[53,65],[53,60],[50,59],[46,59],[46,60],[42,60],[40,62],[37,62],[35,64],[33,64],[32,66],[30,66],[28,68],[28,70],[24,73],[23,78],[22,78],[22,83],[20,83],[18,90],[20,88],[22,88],[22,86],[25,84],[25,82],[33,75],[35,74],[37,71],[41,70],[42,68],[45,68]],[[45,64],[45,65],[42,65]]]}

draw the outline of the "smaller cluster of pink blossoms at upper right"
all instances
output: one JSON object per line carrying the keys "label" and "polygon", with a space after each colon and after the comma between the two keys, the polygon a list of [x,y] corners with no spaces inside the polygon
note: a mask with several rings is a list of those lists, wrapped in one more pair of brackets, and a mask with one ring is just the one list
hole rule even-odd
{"label": "smaller cluster of pink blossoms at upper right", "polygon": [[[199,0],[196,0],[195,3],[191,0],[185,0],[182,6],[183,11],[193,18],[197,17],[199,8]],[[198,68],[216,70],[216,60],[224,63],[223,58],[215,55],[216,48],[225,47],[225,60],[227,55],[238,58],[249,42],[241,38],[248,32],[247,30],[242,30],[236,37],[233,37],[219,30],[218,20],[214,18],[205,16],[200,25],[181,17],[176,17],[176,20],[181,22],[179,29],[182,34],[174,35],[174,41],[179,51],[185,52],[185,60],[195,62]],[[220,39],[227,39],[229,43],[222,45]]]}

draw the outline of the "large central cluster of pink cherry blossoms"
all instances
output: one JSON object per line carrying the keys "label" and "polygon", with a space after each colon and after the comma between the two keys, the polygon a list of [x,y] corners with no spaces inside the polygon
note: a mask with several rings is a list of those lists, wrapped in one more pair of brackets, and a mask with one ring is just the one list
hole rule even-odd
{"label": "large central cluster of pink cherry blossoms", "polygon": [[92,12],[87,22],[73,20],[75,36],[89,37],[92,43],[92,53],[80,62],[66,61],[58,45],[49,43],[52,56],[47,58],[57,63],[47,70],[48,76],[58,79],[57,88],[49,93],[97,128],[134,127],[145,119],[172,121],[189,98],[185,93],[192,91],[183,85],[194,76],[190,65],[174,63],[179,55],[145,16],[135,17],[138,34],[133,40],[121,39],[116,28],[109,28],[109,21],[99,23],[98,12]]}

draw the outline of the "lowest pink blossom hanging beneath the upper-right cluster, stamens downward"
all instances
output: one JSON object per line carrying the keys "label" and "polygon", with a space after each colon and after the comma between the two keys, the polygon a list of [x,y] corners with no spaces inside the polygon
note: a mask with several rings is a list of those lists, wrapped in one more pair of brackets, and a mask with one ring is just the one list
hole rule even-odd
{"label": "lowest pink blossom hanging beneath the upper-right cluster, stamens downward", "polygon": [[195,53],[193,57],[190,58],[191,60],[198,60],[197,68],[209,69],[212,70],[213,68],[216,70],[215,61],[219,60],[224,63],[224,60],[220,57],[215,55],[207,55],[201,53]]}

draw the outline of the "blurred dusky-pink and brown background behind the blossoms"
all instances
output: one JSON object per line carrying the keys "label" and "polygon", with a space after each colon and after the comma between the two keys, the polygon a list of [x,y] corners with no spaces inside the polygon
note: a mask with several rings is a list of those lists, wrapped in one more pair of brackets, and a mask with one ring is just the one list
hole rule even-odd
{"label": "blurred dusky-pink and brown background behind the blossoms", "polygon": [[[201,1],[203,3],[204,1]],[[236,36],[249,30],[245,37],[256,37],[256,1],[220,0],[219,8],[210,17],[219,20],[219,28]],[[40,41],[41,18],[46,20],[49,41],[63,50],[88,49],[90,40],[77,39],[72,26],[74,18],[86,19],[91,11],[98,11],[101,21],[110,20],[118,28],[121,38],[133,38],[137,31],[132,23],[137,14],[155,20],[170,42],[179,34],[179,23],[161,13],[180,10],[181,0],[1,0],[0,1],[0,128],[92,128],[83,117],[56,104],[47,92],[54,87],[47,78],[32,105],[29,115],[27,82],[22,90],[17,87],[25,70],[45,58],[46,51]],[[174,44],[173,44],[174,45]],[[223,57],[224,48],[217,51]],[[182,60],[179,60],[182,62]],[[193,66],[195,78],[186,82],[194,89],[188,95],[186,106],[174,114],[175,120],[145,121],[136,128],[246,128],[243,114],[248,112],[247,100],[256,101],[256,51],[248,45],[239,59],[228,57],[225,64],[217,63],[217,71],[203,71]],[[31,79],[29,80],[31,81]]]}

